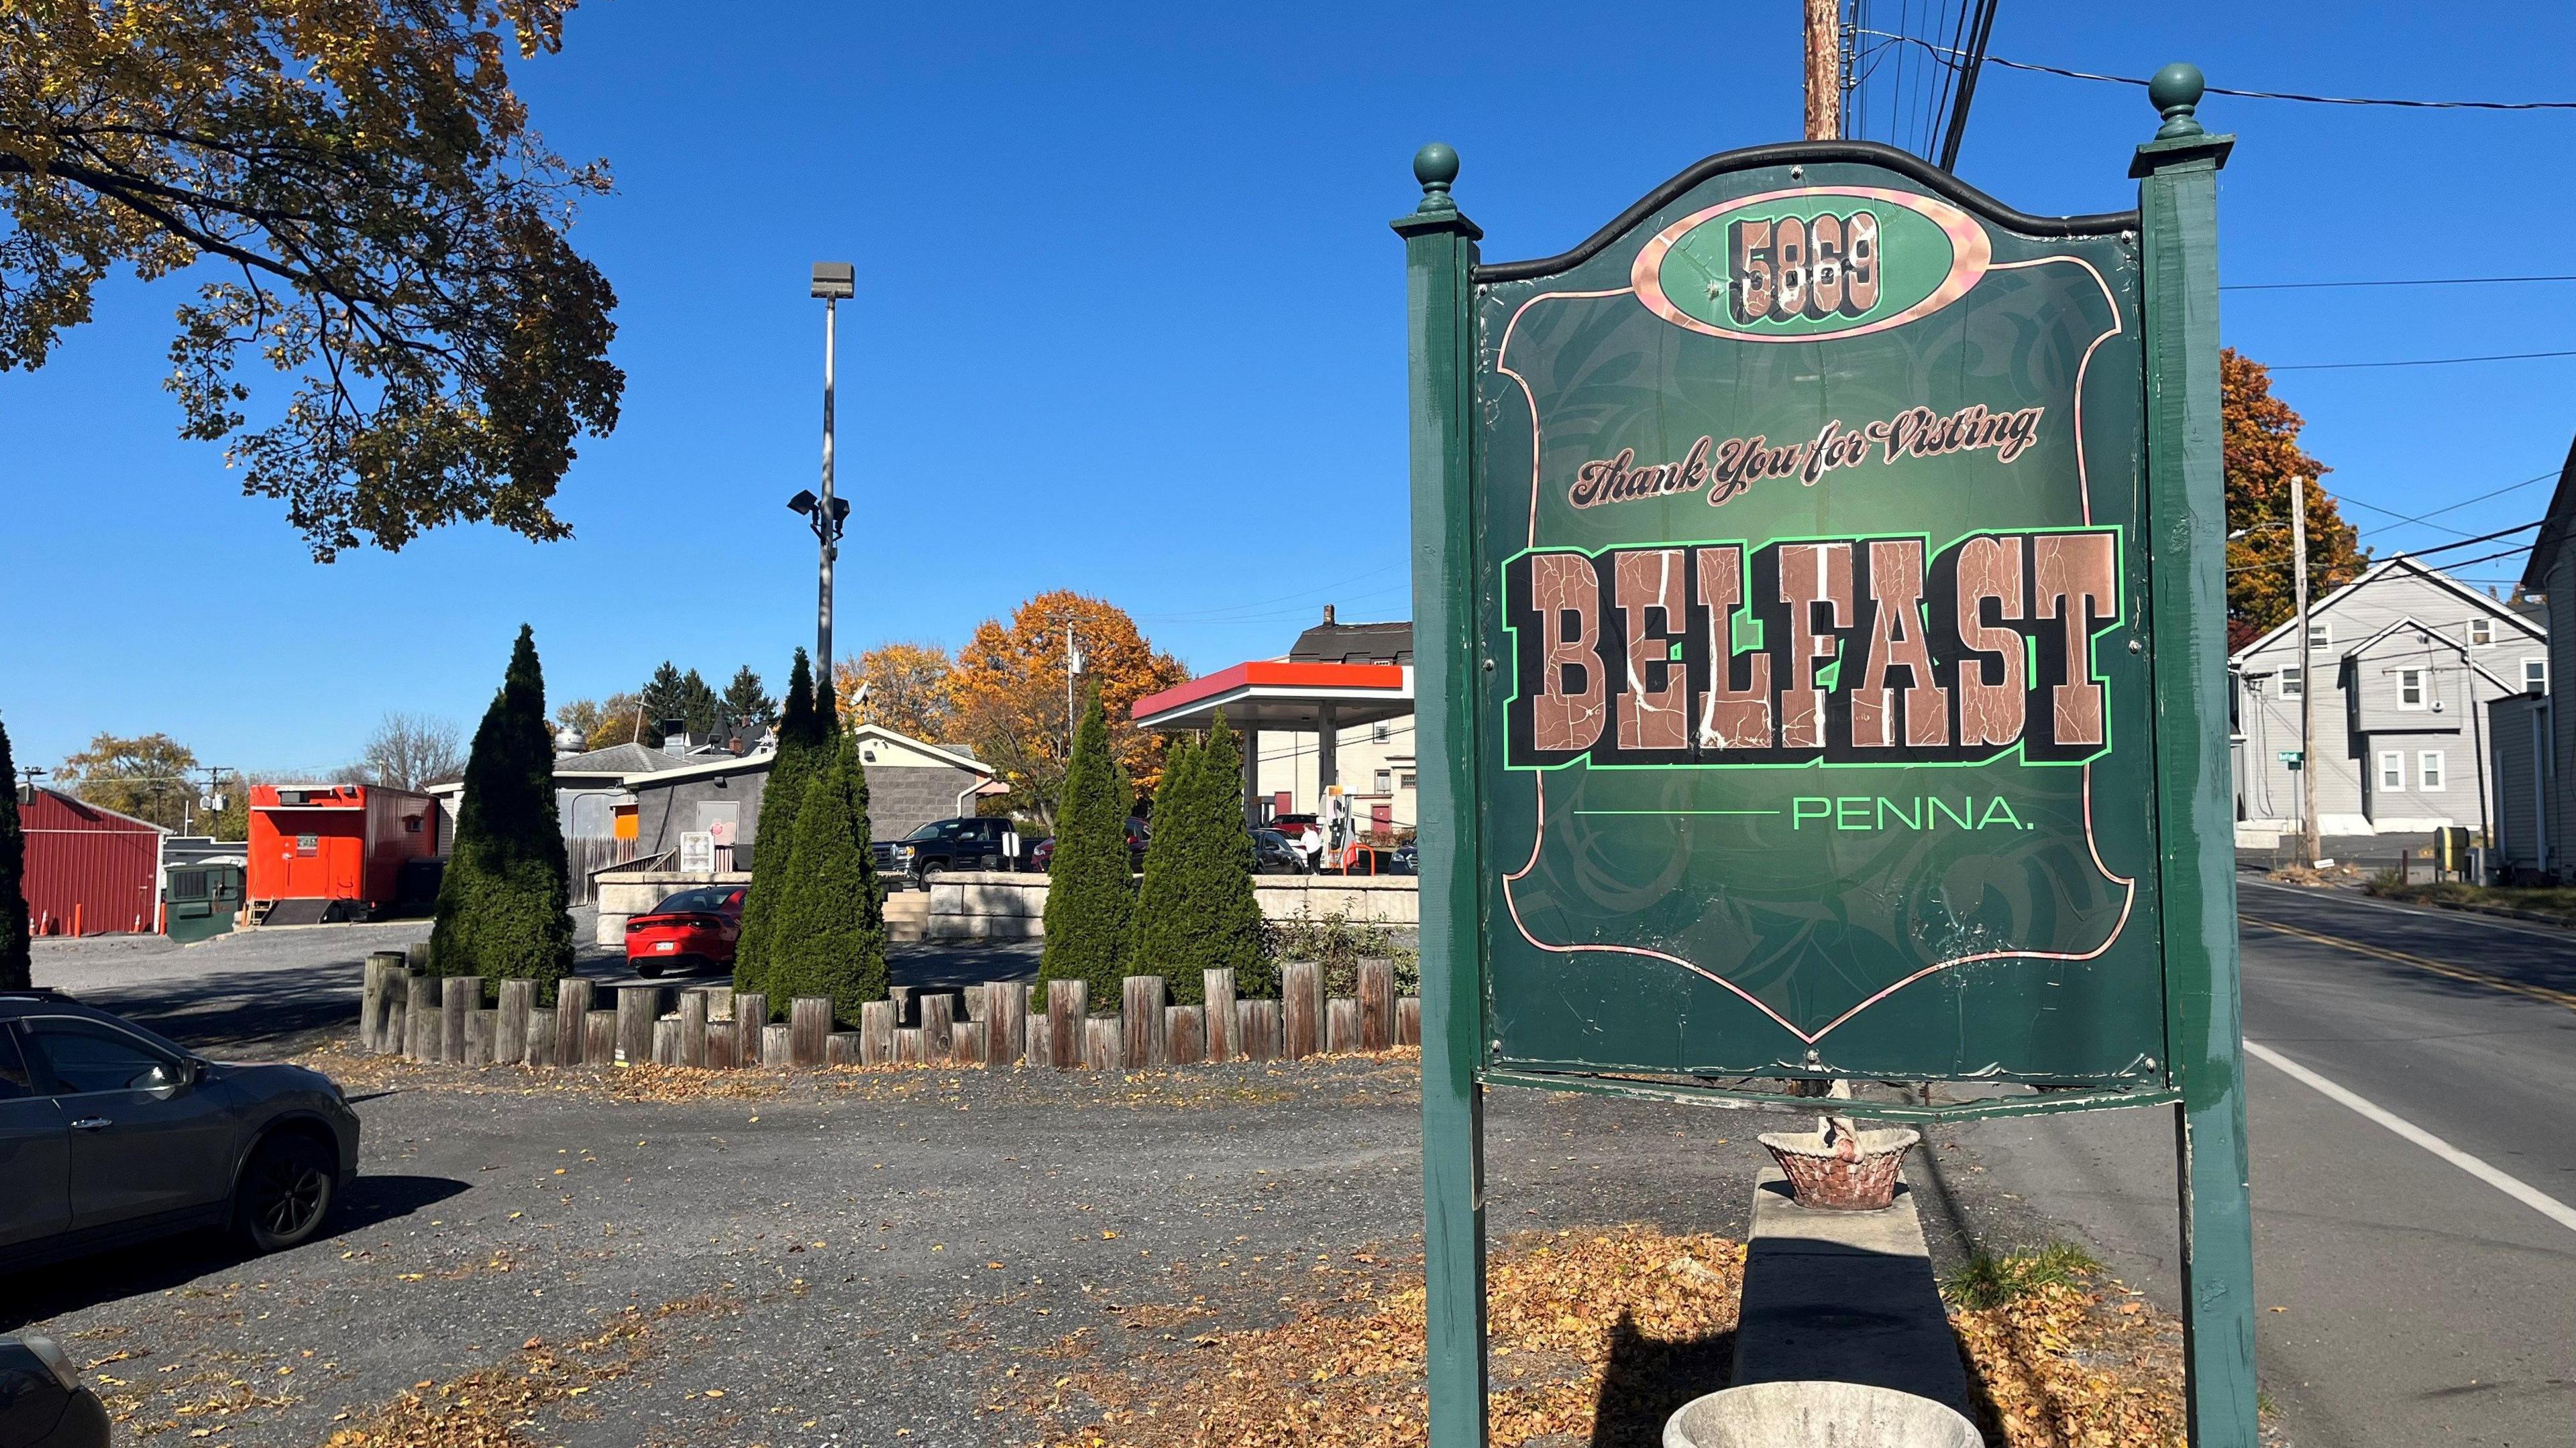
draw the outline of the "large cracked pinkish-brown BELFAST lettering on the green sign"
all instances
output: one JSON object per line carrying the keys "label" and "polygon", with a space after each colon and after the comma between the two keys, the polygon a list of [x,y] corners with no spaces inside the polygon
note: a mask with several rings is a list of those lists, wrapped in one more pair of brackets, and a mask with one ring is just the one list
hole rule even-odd
{"label": "large cracked pinkish-brown BELFAST lettering on the green sign", "polygon": [[2120,531],[1533,549],[1504,621],[1515,768],[2079,763]]}

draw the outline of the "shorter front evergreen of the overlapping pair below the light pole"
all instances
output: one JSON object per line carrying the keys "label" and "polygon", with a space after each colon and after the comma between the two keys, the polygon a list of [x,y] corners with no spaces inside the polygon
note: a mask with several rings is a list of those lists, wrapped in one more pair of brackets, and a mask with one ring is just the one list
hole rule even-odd
{"label": "shorter front evergreen of the overlapping pair below the light pole", "polygon": [[860,1005],[886,1000],[886,891],[868,845],[868,770],[858,739],[842,734],[796,809],[796,845],[770,917],[775,1005],[822,995],[832,1020],[850,1028]]}

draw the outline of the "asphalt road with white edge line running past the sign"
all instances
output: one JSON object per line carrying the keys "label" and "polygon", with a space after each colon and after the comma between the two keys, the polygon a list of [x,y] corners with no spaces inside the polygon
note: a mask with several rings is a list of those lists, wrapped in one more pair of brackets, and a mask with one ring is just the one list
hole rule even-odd
{"label": "asphalt road with white edge line running past the sign", "polygon": [[[2272,1056],[2246,1064],[2257,1368],[2287,1438],[2576,1443],[2576,935],[2254,879],[2239,915]],[[2177,1306],[2169,1110],[1940,1136],[1963,1149],[1929,1185],[1986,1239],[2071,1224]]]}

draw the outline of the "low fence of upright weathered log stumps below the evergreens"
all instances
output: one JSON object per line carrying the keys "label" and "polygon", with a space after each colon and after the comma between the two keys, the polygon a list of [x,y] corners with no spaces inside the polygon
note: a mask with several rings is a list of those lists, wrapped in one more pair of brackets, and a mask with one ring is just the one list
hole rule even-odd
{"label": "low fence of upright weathered log stumps below the evergreens", "polygon": [[379,951],[366,958],[358,1046],[466,1067],[1141,1069],[1422,1043],[1422,1000],[1396,995],[1394,961],[1360,961],[1358,995],[1324,995],[1316,961],[1285,961],[1278,1000],[1236,1000],[1234,971],[1203,971],[1203,984],[1206,1005],[1170,1005],[1164,976],[1126,976],[1115,1015],[1092,1015],[1084,982],[1051,982],[1043,1010],[1030,1010],[1030,982],[894,987],[860,1007],[858,1031],[832,1031],[829,1000],[788,1002],[781,1025],[768,997],[732,987],[621,984],[603,1005],[595,982],[572,976],[541,1007],[536,982],[502,982],[487,1007],[482,976],[412,974],[404,953]]}

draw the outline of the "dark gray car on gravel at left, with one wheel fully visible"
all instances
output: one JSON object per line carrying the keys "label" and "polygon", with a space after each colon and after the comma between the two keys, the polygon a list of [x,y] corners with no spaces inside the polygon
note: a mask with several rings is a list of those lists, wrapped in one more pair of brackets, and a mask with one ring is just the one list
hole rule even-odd
{"label": "dark gray car on gravel at left, with one wheel fully visible", "polygon": [[0,1270],[229,1226],[322,1232],[358,1113],[304,1067],[209,1062],[54,989],[0,992]]}

